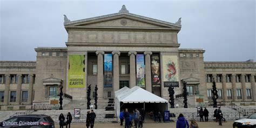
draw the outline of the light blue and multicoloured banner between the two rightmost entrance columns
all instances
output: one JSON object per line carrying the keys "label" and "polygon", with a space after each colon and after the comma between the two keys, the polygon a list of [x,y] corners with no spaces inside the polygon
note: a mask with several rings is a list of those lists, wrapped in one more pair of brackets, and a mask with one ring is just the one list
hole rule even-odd
{"label": "light blue and multicoloured banner between the two rightmost entrance columns", "polygon": [[144,54],[136,55],[136,85],[139,87],[145,87],[145,64],[144,64]]}

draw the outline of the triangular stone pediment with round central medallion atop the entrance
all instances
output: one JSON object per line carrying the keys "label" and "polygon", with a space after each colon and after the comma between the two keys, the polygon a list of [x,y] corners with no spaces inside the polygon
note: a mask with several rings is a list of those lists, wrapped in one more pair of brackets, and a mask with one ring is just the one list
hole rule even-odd
{"label": "triangular stone pediment with round central medallion atop the entrance", "polygon": [[160,21],[130,13],[117,13],[64,23],[65,28],[162,28],[180,30],[180,24]]}

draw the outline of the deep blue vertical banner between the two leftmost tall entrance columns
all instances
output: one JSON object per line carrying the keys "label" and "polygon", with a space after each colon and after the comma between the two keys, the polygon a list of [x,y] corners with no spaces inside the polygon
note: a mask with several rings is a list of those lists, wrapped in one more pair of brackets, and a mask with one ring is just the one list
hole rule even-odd
{"label": "deep blue vertical banner between the two leftmost tall entrance columns", "polygon": [[112,54],[104,54],[104,87],[112,87]]}

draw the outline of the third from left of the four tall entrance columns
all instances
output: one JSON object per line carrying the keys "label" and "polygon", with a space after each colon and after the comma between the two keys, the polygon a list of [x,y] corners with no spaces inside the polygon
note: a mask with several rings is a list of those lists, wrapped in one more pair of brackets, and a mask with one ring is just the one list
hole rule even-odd
{"label": "third from left of the four tall entrance columns", "polygon": [[135,64],[135,55],[136,51],[129,51],[128,55],[130,56],[130,88],[136,86],[136,64]]}

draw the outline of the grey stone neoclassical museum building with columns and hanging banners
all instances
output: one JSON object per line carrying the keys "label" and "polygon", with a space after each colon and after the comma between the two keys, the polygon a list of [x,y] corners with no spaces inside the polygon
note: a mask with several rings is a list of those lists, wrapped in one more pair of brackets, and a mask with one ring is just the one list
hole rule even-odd
{"label": "grey stone neoclassical museum building with columns and hanging banners", "polygon": [[[199,96],[212,100],[213,79],[219,102],[255,103],[256,63],[205,62],[203,49],[179,49],[181,18],[170,23],[129,13],[70,21],[66,48],[35,48],[36,61],[0,61],[1,110],[29,109],[50,104],[60,87],[72,99],[114,98],[124,86],[139,86],[169,100],[174,95]],[[139,97],[139,96],[138,96]]]}

